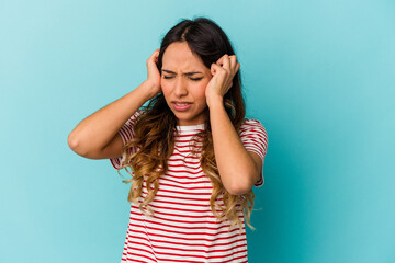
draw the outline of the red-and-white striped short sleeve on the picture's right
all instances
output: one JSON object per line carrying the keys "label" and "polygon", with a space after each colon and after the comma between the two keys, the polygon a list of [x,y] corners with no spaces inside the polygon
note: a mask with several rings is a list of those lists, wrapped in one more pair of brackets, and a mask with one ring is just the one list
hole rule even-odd
{"label": "red-and-white striped short sleeve on the picture's right", "polygon": [[[256,119],[245,119],[240,129],[239,136],[242,145],[247,151],[253,151],[264,160],[264,156],[268,151],[268,133],[263,125]],[[263,173],[260,172],[260,180],[255,186],[260,187],[264,183]]]}

